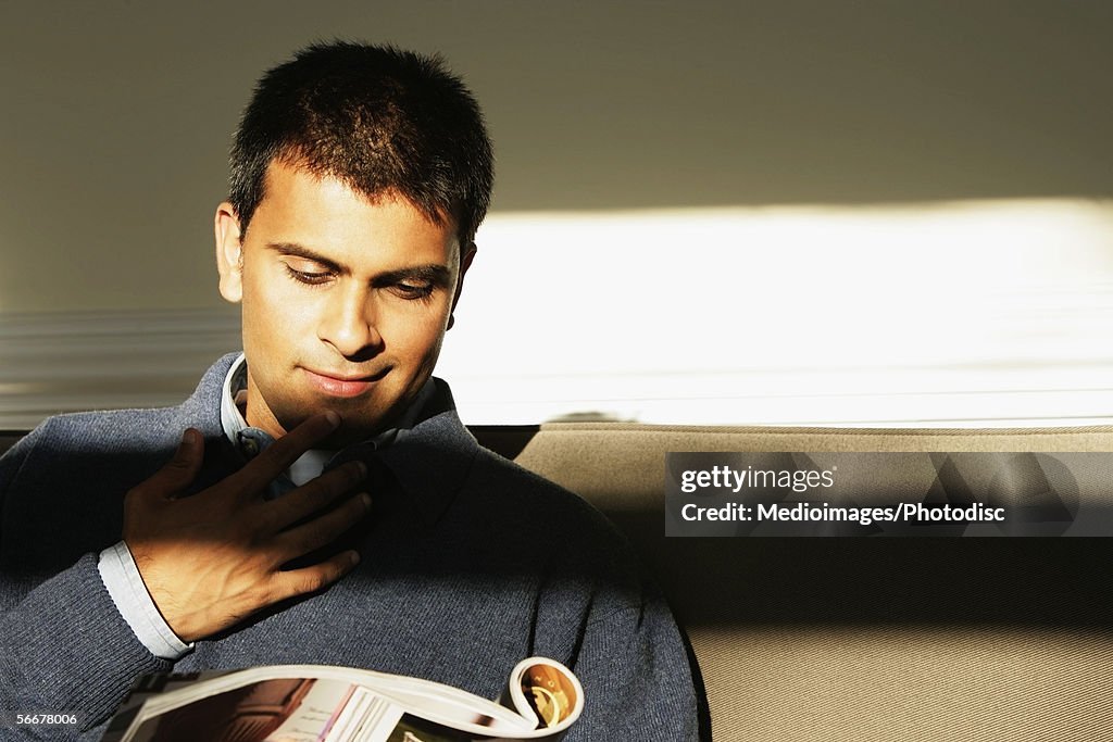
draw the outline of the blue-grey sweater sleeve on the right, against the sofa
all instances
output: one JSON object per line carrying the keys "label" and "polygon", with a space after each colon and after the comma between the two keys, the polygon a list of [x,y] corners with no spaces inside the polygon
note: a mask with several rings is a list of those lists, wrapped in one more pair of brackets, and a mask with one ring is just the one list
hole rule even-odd
{"label": "blue-grey sweater sleeve on the right, against the sofa", "polygon": [[603,515],[582,501],[567,508],[577,517],[558,526],[567,535],[540,595],[533,643],[583,685],[583,713],[565,742],[698,740],[693,665],[661,591]]}

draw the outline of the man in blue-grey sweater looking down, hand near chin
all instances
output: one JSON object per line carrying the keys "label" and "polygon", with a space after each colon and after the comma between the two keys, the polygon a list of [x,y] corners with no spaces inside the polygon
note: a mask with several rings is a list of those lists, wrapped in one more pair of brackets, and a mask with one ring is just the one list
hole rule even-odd
{"label": "man in blue-grey sweater looking down, hand near chin", "polygon": [[695,735],[629,550],[432,378],[491,182],[436,60],[333,43],[264,76],[215,219],[244,354],[178,407],[51,418],[0,459],[0,712],[96,739],[144,673],[277,663],[490,698],[541,654],[584,685],[568,739]]}

